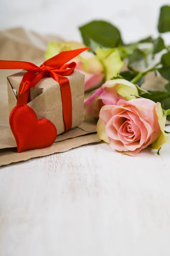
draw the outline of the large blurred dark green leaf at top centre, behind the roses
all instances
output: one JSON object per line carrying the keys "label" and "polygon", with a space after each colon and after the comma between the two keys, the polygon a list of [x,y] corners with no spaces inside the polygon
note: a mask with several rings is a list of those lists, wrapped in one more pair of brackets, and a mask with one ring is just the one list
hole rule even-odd
{"label": "large blurred dark green leaf at top centre, behind the roses", "polygon": [[122,44],[122,38],[115,26],[103,20],[94,20],[79,27],[85,45],[90,46],[90,39],[103,47],[116,47]]}

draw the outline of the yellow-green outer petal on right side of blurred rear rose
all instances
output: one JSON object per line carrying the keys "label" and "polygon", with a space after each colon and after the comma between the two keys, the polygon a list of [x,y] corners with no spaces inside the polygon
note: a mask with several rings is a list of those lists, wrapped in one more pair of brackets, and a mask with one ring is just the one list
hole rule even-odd
{"label": "yellow-green outer petal on right side of blurred rear rose", "polygon": [[115,48],[97,48],[96,56],[104,65],[106,80],[110,80],[112,77],[117,76],[123,67],[123,61],[120,58],[119,51]]}

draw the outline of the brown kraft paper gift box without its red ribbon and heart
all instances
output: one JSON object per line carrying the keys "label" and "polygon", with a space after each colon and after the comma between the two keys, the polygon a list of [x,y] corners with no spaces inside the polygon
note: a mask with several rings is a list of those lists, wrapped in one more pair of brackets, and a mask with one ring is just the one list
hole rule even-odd
{"label": "brown kraft paper gift box without its red ribbon and heart", "polygon": [[[17,105],[20,82],[26,71],[7,77],[9,113]],[[71,87],[72,128],[82,124],[84,120],[84,75],[77,70],[66,76]],[[38,119],[50,120],[57,128],[57,135],[65,131],[62,113],[62,96],[59,83],[51,77],[41,79],[30,89],[28,104],[37,114]]]}

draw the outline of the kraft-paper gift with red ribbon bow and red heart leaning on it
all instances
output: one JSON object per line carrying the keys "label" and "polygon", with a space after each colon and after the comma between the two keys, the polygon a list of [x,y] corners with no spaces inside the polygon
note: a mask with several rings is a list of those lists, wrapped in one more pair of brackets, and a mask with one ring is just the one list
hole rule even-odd
{"label": "kraft-paper gift with red ribbon bow and red heart leaning on it", "polygon": [[40,67],[0,61],[1,69],[24,69],[8,76],[9,123],[18,152],[44,148],[83,122],[84,75],[72,58],[88,48],[61,52]]}

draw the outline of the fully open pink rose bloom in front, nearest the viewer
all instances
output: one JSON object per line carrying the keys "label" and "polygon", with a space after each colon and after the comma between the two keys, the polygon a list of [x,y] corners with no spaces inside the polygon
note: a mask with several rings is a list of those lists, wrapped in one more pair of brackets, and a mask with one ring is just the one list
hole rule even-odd
{"label": "fully open pink rose bloom in front, nearest the viewer", "polygon": [[148,145],[160,149],[168,140],[164,133],[166,115],[159,102],[121,99],[117,105],[102,107],[99,117],[99,138],[122,154],[134,157]]}

